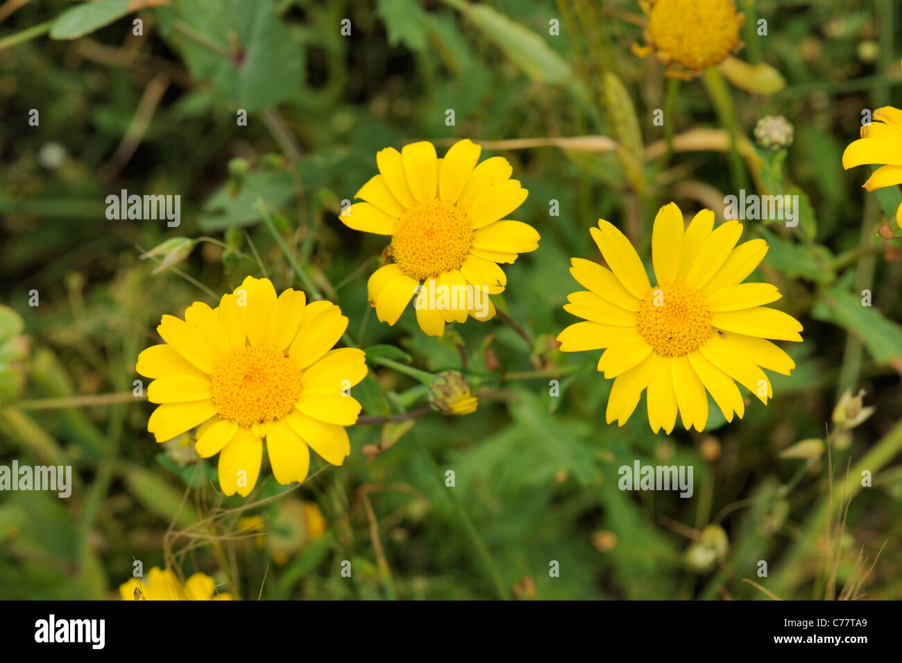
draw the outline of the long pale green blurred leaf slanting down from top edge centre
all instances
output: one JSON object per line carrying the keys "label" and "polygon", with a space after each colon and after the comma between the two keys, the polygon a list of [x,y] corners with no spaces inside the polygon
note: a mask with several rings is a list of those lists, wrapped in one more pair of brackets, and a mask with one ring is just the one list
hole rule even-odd
{"label": "long pale green blurred leaf slanting down from top edge centre", "polygon": [[535,32],[487,5],[462,2],[454,6],[529,78],[552,85],[563,85],[570,78],[570,65]]}

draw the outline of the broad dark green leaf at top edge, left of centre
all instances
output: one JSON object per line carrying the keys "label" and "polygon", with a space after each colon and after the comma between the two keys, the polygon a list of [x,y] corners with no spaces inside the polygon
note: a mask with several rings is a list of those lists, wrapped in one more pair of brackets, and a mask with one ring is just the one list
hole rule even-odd
{"label": "broad dark green leaf at top edge, left of centre", "polygon": [[214,46],[201,45],[185,31],[170,32],[191,74],[213,81],[237,106],[272,108],[299,89],[303,49],[276,17],[272,0],[181,0],[175,13],[189,32]]}

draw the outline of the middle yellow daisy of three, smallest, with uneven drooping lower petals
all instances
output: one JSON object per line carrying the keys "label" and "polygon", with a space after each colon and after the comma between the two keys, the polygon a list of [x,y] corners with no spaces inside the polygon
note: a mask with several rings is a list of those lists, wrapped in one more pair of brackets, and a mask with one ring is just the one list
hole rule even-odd
{"label": "middle yellow daisy of three, smallest, with uneven drooping lower petals", "polygon": [[495,308],[488,295],[507,284],[499,262],[538,248],[532,226],[505,219],[528,191],[511,180],[502,157],[479,165],[482,148],[458,141],[438,159],[432,143],[387,147],[376,154],[380,174],[357,191],[339,218],[350,228],[391,235],[394,262],[373,273],[367,295],[376,317],[394,325],[417,295],[419,327],[442,336],[449,322],[488,320]]}

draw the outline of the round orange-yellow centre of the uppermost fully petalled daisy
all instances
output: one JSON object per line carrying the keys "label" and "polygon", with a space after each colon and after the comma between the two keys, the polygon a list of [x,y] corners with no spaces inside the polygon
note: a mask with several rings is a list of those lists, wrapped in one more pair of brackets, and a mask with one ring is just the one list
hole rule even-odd
{"label": "round orange-yellow centre of the uppermost fully petalled daisy", "polygon": [[400,217],[391,235],[391,254],[404,272],[423,281],[460,267],[472,242],[473,228],[463,210],[429,200]]}

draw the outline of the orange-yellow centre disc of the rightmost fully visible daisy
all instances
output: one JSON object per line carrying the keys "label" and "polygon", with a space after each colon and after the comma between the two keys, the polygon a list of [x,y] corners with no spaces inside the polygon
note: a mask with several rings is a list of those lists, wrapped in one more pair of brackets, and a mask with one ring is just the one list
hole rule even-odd
{"label": "orange-yellow centre disc of the rightmost fully visible daisy", "polygon": [[636,327],[658,355],[688,355],[713,333],[711,309],[684,283],[659,285],[639,308]]}

